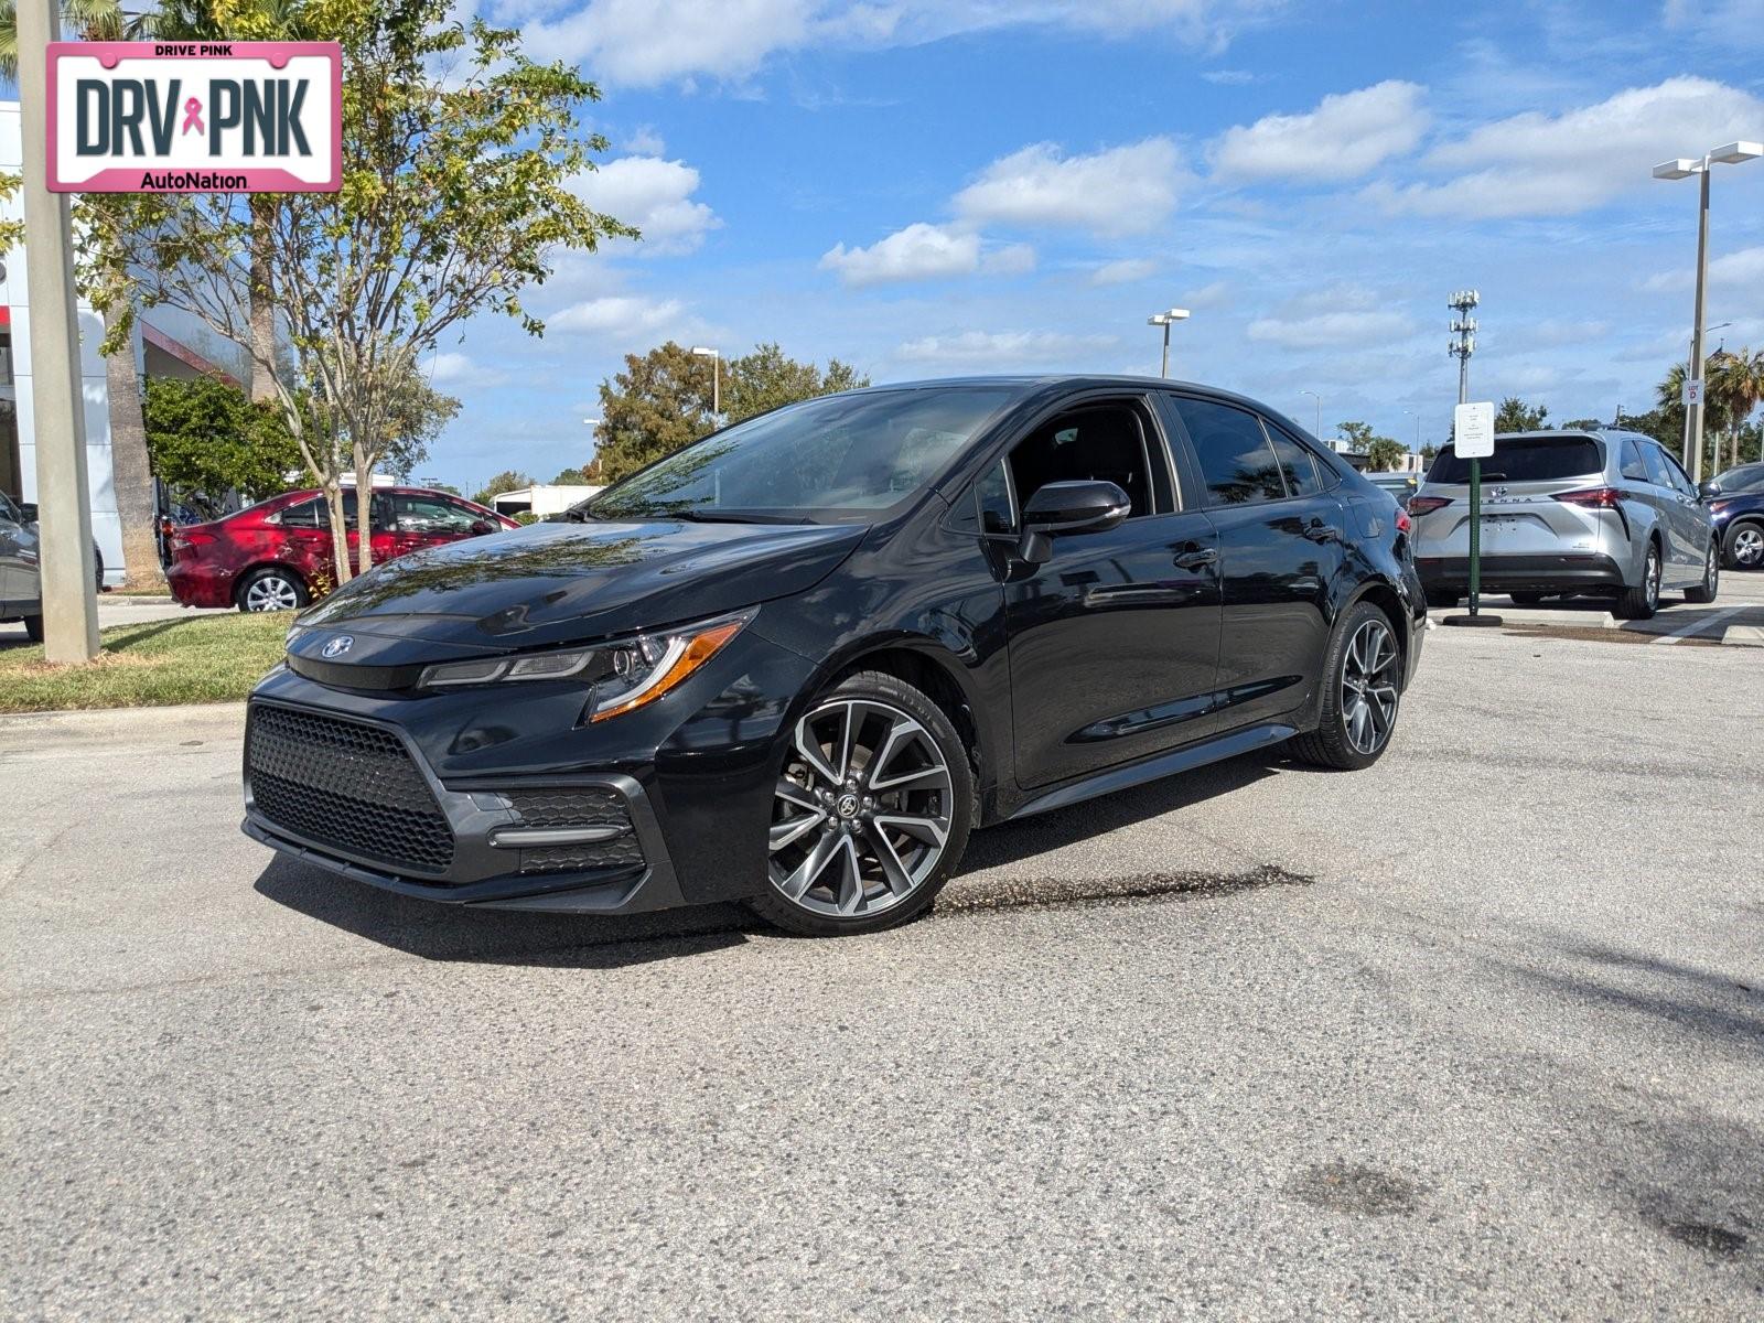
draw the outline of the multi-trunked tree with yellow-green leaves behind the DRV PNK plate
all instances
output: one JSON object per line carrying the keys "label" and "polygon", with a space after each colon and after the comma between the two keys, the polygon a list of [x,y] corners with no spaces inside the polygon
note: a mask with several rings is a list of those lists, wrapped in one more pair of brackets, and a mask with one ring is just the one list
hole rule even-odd
{"label": "multi-trunked tree with yellow-green leaves behind the DRV PNK plate", "polygon": [[[365,489],[411,434],[411,376],[441,335],[480,312],[542,333],[520,293],[557,254],[635,231],[570,187],[607,150],[579,122],[596,86],[529,60],[519,32],[457,23],[448,0],[309,0],[300,25],[342,44],[342,189],[284,194],[272,215],[226,194],[116,194],[129,206],[99,215],[88,250],[111,284],[249,348],[342,527],[342,473]],[[286,367],[250,333],[240,272],[258,259]],[[372,563],[358,545],[351,566],[337,540],[339,582]]]}

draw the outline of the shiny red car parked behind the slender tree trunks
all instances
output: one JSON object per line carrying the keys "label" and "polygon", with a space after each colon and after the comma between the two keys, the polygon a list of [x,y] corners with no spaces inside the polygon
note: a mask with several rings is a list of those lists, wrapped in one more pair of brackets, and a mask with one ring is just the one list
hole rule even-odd
{"label": "shiny red car parked behind the slender tree trunks", "polygon": [[[342,496],[355,559],[356,499]],[[393,556],[520,527],[506,515],[446,492],[379,487],[369,501],[374,564]],[[330,510],[323,492],[282,492],[208,524],[185,524],[168,538],[166,580],[185,607],[291,610],[312,600],[312,584],[335,579]]]}

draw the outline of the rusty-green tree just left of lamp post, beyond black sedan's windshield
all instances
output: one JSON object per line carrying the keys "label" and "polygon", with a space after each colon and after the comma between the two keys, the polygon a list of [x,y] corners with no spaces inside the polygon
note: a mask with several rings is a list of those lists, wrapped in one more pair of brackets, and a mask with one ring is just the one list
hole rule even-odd
{"label": "rusty-green tree just left of lamp post, beyond black sedan's windshield", "polygon": [[624,355],[624,370],[600,383],[589,473],[594,482],[617,482],[714,427],[709,360],[674,340],[642,356]]}

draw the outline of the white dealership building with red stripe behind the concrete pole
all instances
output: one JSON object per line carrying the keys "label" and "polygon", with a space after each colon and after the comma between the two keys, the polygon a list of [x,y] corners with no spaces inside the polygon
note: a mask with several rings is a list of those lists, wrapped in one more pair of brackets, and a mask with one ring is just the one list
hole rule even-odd
{"label": "white dealership building with red stripe behind the concrete pole", "polygon": [[[0,171],[23,169],[23,122],[16,101],[0,101]],[[0,217],[18,220],[23,198],[0,201]],[[104,557],[104,580],[123,580],[122,527],[116,519],[116,489],[111,482],[109,388],[99,344],[104,323],[85,300],[79,303],[79,385],[86,418],[86,482],[92,489],[92,534]],[[132,335],[136,367],[146,377],[194,377],[219,374],[242,383],[250,376],[250,358],[238,344],[210,332],[189,314],[166,307],[146,309],[136,318]],[[25,250],[12,249],[0,259],[0,492],[37,499],[37,427],[32,409],[30,291],[25,282]]]}

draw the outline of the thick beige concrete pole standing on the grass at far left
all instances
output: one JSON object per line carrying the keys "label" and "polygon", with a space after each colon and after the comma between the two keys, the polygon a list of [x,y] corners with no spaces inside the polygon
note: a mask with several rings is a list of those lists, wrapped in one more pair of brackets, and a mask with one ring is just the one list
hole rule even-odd
{"label": "thick beige concrete pole standing on the grass at far left", "polygon": [[42,651],[48,662],[99,653],[93,594],[86,420],[79,390],[79,316],[67,194],[49,192],[49,42],[60,35],[55,0],[18,0],[18,90],[25,125],[25,275],[30,289],[30,386],[37,446],[37,547]]}

